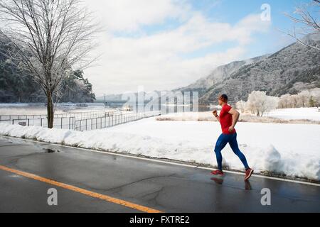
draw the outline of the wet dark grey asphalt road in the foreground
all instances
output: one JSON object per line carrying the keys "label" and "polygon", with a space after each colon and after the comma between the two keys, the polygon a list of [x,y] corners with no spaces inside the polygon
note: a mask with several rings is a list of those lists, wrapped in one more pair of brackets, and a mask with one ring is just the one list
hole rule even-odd
{"label": "wet dark grey asphalt road in the foreground", "polygon": [[[319,186],[255,176],[245,182],[234,173],[213,179],[210,170],[13,138],[0,137],[0,167],[0,212],[143,212],[139,206],[187,213],[320,212]],[[58,191],[57,206],[48,205],[50,188]],[[270,206],[261,204],[265,188],[271,192]],[[106,201],[101,195],[125,202]]]}

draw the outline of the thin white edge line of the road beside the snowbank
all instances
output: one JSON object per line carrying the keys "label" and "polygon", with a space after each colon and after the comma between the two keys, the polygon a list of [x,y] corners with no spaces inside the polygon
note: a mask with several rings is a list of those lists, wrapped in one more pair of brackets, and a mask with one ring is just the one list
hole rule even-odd
{"label": "thin white edge line of the road beside the snowbank", "polygon": [[[43,143],[43,144],[56,145],[56,146],[60,146],[60,147],[63,147],[63,148],[74,148],[74,149],[78,149],[78,150],[86,150],[86,151],[90,151],[90,152],[93,152],[93,153],[100,153],[100,154],[105,154],[105,155],[117,155],[119,157],[129,157],[129,158],[134,158],[134,159],[138,159],[138,160],[146,160],[146,161],[149,161],[149,162],[159,162],[159,163],[164,163],[164,164],[169,164],[169,165],[178,165],[178,166],[183,166],[183,167],[191,167],[193,169],[215,170],[215,169],[209,168],[209,167],[200,167],[200,166],[196,166],[196,165],[187,165],[187,164],[181,164],[181,163],[176,163],[176,162],[155,160],[155,159],[152,159],[152,158],[137,157],[137,156],[133,156],[133,155],[124,155],[124,154],[112,153],[112,152],[108,152],[108,151],[92,150],[92,149],[89,149],[89,148],[77,148],[77,147],[72,147],[72,146],[68,146],[68,145],[61,145],[61,144],[58,144],[58,143],[41,142],[41,141],[37,141],[37,140],[29,140],[29,139],[17,138],[17,137],[12,137],[12,136],[7,136],[7,135],[0,135],[0,137],[13,138],[13,139],[17,139],[17,140],[26,140],[28,142],[33,142],[33,143]],[[236,172],[236,171],[230,171],[230,170],[223,170],[223,172],[232,173],[232,174],[235,174],[235,175],[245,175],[245,173],[243,173],[243,172]],[[268,176],[264,176],[264,175],[255,175],[255,174],[253,174],[252,177],[273,179],[273,180],[277,180],[277,181],[280,181],[280,182],[292,182],[292,183],[297,183],[297,184],[306,184],[306,185],[312,185],[312,186],[320,187],[320,184],[316,184],[316,183],[312,183],[312,182],[302,182],[302,181],[298,181],[298,180],[294,180],[294,179],[268,177]]]}

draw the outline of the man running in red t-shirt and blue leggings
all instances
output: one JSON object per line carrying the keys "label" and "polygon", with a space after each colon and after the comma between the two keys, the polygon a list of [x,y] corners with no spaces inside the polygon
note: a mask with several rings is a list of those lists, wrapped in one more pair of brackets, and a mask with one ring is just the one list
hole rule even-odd
{"label": "man running in red t-shirt and blue leggings", "polygon": [[247,165],[245,155],[242,154],[238,147],[235,124],[238,122],[240,114],[238,111],[228,105],[228,96],[226,94],[220,95],[218,102],[219,105],[222,106],[220,116],[218,116],[218,111],[216,110],[213,111],[213,115],[220,122],[223,133],[220,135],[217,143],[215,144],[215,155],[217,157],[218,170],[211,172],[211,174],[223,176],[223,157],[221,155],[221,150],[223,150],[223,148],[225,148],[225,145],[229,143],[231,149],[233,150],[233,153],[235,153],[235,155],[238,155],[241,162],[245,166],[245,180],[247,180],[251,177],[253,170],[249,167],[249,165]]}

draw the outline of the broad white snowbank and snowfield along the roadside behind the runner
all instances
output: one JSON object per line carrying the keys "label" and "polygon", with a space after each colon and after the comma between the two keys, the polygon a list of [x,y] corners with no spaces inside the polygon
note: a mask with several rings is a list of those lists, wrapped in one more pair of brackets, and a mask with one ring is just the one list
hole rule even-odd
{"label": "broad white snowbank and snowfield along the roadside behind the runner", "polygon": [[[320,181],[319,125],[238,123],[236,129],[240,150],[256,172],[270,171]],[[213,148],[220,135],[220,125],[212,121],[148,118],[114,128],[78,132],[0,123],[0,135],[216,165]],[[243,170],[228,145],[223,157],[225,166]]]}

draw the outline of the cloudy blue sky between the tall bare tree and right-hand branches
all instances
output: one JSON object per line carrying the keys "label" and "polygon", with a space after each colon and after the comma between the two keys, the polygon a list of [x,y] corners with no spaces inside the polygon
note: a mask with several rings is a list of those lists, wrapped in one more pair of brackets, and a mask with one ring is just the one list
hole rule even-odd
{"label": "cloudy blue sky between the tall bare tree and right-hand branches", "polygon": [[[102,31],[85,70],[96,96],[184,87],[294,42],[284,13],[309,0],[84,0]],[[269,13],[270,12],[270,13]],[[270,15],[270,16],[269,16]]]}

